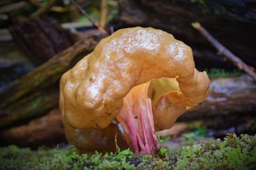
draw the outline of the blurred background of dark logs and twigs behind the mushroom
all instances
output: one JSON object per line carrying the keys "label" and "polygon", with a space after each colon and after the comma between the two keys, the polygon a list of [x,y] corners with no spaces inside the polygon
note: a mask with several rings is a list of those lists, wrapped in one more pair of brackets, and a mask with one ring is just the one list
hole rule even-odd
{"label": "blurred background of dark logs and twigs behind the mushroom", "polygon": [[[177,148],[228,132],[255,134],[256,1],[1,0],[1,146],[68,147],[58,109],[61,75],[100,39],[134,26],[162,29],[184,41],[193,49],[196,68],[211,78],[204,103],[157,133],[162,145]],[[109,131],[77,132],[91,136],[81,149],[112,150],[118,128],[113,124]],[[112,144],[90,144],[99,133]]]}

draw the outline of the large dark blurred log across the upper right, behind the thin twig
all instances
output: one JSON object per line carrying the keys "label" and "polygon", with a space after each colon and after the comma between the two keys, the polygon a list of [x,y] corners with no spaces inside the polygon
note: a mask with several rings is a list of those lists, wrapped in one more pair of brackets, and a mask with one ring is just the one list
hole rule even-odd
{"label": "large dark blurred log across the upper right, behind the thin twig", "polygon": [[[200,22],[214,38],[234,52],[244,62],[256,66],[255,1],[154,1],[119,0],[120,21],[125,26],[155,27],[172,33],[192,49],[216,50],[191,26]],[[200,52],[200,50],[198,50]],[[195,55],[196,60],[197,55]],[[208,56],[205,55],[205,58]],[[218,62],[218,60],[216,61]],[[210,65],[212,62],[205,63]],[[218,66],[218,64],[216,64]],[[197,66],[197,64],[196,64]]]}

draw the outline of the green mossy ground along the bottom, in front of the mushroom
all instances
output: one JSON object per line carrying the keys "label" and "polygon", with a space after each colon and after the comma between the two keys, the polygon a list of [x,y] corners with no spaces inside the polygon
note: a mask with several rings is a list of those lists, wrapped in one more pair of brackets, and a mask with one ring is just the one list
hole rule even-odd
{"label": "green mossy ground along the bottom, in front of the mushroom", "polygon": [[116,153],[77,155],[76,149],[0,148],[0,169],[256,169],[256,135],[228,134],[220,139],[161,148],[154,155]]}

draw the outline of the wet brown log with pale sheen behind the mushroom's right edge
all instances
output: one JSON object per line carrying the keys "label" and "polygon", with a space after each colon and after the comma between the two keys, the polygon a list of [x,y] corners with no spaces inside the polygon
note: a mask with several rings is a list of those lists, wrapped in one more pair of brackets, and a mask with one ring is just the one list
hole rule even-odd
{"label": "wet brown log with pale sheen behind the mushroom's right edge", "polygon": [[250,76],[214,78],[207,99],[186,111],[179,120],[197,120],[251,114],[256,110],[256,84]]}

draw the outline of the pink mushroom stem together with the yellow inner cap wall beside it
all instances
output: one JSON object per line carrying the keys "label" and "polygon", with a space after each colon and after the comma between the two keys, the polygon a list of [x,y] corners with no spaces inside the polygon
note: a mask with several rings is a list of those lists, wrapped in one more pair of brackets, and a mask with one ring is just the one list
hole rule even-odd
{"label": "pink mushroom stem together with the yellow inner cap wall beside it", "polygon": [[159,149],[152,106],[159,97],[173,90],[179,91],[175,78],[159,78],[133,87],[124,97],[124,105],[116,118],[134,153],[150,154]]}

